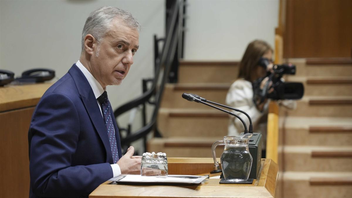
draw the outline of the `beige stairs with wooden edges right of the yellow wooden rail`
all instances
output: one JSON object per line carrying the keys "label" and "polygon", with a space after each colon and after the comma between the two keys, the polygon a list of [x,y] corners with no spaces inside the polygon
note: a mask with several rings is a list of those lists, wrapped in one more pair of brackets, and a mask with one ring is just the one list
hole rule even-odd
{"label": "beige stairs with wooden edges right of the yellow wooden rail", "polygon": [[352,197],[352,63],[289,62],[297,74],[287,80],[305,91],[296,110],[279,113],[278,197]]}

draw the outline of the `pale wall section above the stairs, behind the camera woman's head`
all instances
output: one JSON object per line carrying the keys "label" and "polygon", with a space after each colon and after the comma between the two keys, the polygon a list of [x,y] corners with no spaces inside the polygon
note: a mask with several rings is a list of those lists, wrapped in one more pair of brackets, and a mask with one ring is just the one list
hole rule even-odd
{"label": "pale wall section above the stairs, behind the camera woman's head", "polygon": [[240,60],[247,44],[274,47],[278,0],[188,0],[185,59]]}

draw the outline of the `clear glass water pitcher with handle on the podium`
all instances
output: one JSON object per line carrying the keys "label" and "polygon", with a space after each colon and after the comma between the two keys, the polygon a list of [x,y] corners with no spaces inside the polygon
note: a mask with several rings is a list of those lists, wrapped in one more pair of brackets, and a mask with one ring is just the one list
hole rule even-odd
{"label": "clear glass water pitcher with handle on the podium", "polygon": [[215,148],[218,145],[225,145],[220,162],[226,181],[241,182],[248,180],[253,162],[248,149],[248,142],[251,136],[252,134],[250,133],[240,136],[225,136],[224,140],[216,141],[213,144],[212,152],[215,170],[219,169]]}

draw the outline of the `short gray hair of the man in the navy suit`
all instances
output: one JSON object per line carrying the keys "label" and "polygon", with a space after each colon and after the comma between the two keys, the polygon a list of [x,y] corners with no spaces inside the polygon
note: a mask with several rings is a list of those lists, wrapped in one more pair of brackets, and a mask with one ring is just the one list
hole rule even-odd
{"label": "short gray hair of the man in the navy suit", "polygon": [[98,10],[89,14],[86,24],[84,24],[82,31],[82,52],[84,51],[84,37],[91,34],[97,40],[98,44],[100,44],[103,37],[110,30],[111,21],[115,17],[124,21],[131,29],[140,30],[138,21],[133,18],[130,12],[111,6],[98,8]]}

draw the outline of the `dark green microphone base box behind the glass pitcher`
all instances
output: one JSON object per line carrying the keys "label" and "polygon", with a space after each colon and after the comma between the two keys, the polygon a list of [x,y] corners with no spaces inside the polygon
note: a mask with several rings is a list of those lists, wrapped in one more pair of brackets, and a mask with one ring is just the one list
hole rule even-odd
{"label": "dark green microphone base box behind the glass pitcher", "polygon": [[[243,135],[241,133],[240,135]],[[248,149],[249,153],[253,157],[251,172],[249,174],[249,179],[257,179],[261,161],[262,161],[262,140],[263,136],[260,133],[253,133],[252,137],[250,138]]]}

